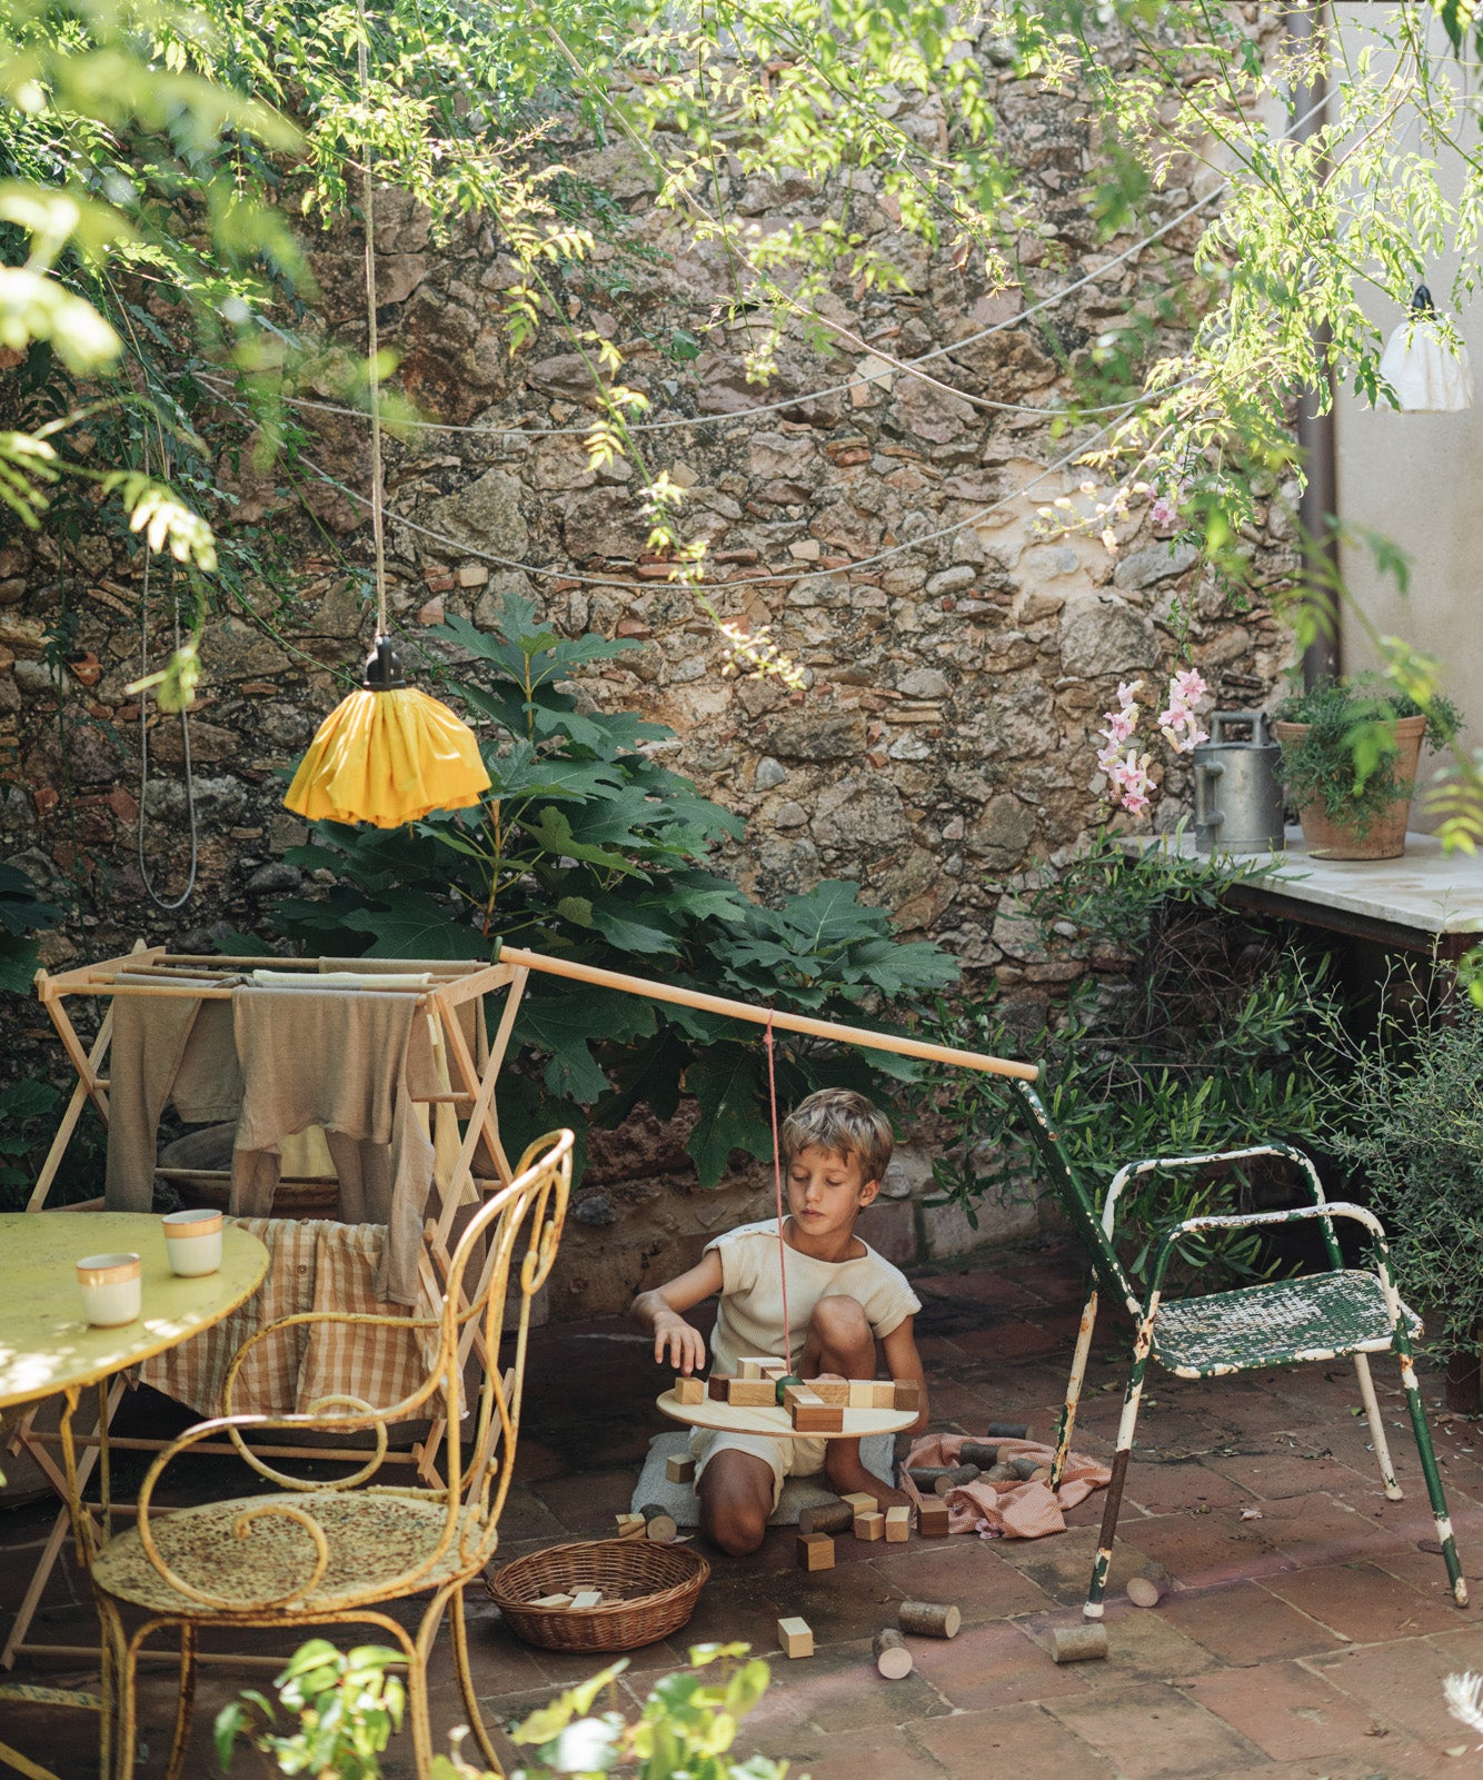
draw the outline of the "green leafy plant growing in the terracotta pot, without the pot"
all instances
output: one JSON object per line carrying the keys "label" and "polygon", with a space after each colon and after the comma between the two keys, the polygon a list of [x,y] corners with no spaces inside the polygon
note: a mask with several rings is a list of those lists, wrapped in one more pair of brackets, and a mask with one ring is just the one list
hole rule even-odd
{"label": "green leafy plant growing in the terracotta pot, without the pot", "polygon": [[1433,691],[1421,703],[1374,675],[1326,680],[1293,692],[1275,716],[1309,724],[1307,735],[1282,742],[1282,783],[1289,801],[1300,808],[1323,805],[1325,815],[1353,828],[1360,838],[1414,789],[1412,780],[1396,773],[1396,723],[1426,717],[1426,744],[1433,749],[1444,748],[1462,724],[1456,705],[1442,692]]}

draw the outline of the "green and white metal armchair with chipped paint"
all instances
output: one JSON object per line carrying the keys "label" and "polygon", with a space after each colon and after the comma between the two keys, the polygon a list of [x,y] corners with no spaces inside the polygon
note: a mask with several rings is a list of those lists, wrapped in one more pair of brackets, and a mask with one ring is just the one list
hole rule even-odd
{"label": "green and white metal armchair with chipped paint", "polygon": [[[1376,1403],[1374,1383],[1369,1376],[1369,1360],[1365,1356],[1371,1353],[1394,1353],[1399,1362],[1401,1383],[1406,1387],[1412,1433],[1421,1454],[1421,1474],[1426,1479],[1426,1493],[1437,1520],[1437,1538],[1442,1543],[1442,1558],[1447,1565],[1453,1598],[1460,1607],[1465,1607],[1467,1584],[1462,1577],[1456,1541],[1453,1540],[1453,1524],[1447,1518],[1447,1502],[1442,1493],[1442,1477],[1431,1451],[1431,1431],[1426,1426],[1421,1387],[1412,1365],[1412,1340],[1421,1335],[1421,1319],[1401,1303],[1399,1292],[1390,1283],[1385,1230],[1380,1219],[1360,1205],[1325,1200],[1314,1164],[1301,1150],[1294,1150],[1285,1143],[1264,1143],[1253,1145],[1248,1150],[1221,1150],[1211,1155],[1150,1157],[1129,1162],[1113,1177],[1098,1219],[1091,1196],[1061,1152],[1040,1096],[1027,1082],[1015,1082],[1013,1088],[1025,1104],[1031,1137],[1054,1182],[1056,1194],[1091,1257],[1091,1287],[1081,1317],[1072,1376],[1066,1383],[1066,1403],[1056,1428],[1052,1488],[1059,1483],[1072,1440],[1077,1401],[1086,1374],[1086,1356],[1091,1349],[1091,1330],[1097,1323],[1098,1289],[1106,1290],[1118,1303],[1127,1305],[1129,1315],[1136,1324],[1132,1367],[1123,1394],[1122,1422],[1118,1424],[1118,1449],[1113,1458],[1113,1479],[1107,1486],[1102,1536],[1097,1541],[1097,1561],[1093,1563],[1091,1588],[1088,1590],[1082,1613],[1090,1620],[1102,1616],[1102,1597],[1107,1588],[1107,1570],[1113,1563],[1113,1538],[1116,1536],[1123,1481],[1127,1479],[1132,1435],[1138,1424],[1138,1406],[1143,1397],[1143,1380],[1150,1360],[1157,1360],[1159,1365],[1166,1367],[1177,1378],[1221,1378],[1227,1372],[1246,1372],[1264,1365],[1293,1365],[1298,1360],[1353,1356],[1355,1372],[1360,1381],[1360,1399],[1369,1419],[1374,1456],[1380,1463],[1380,1481],[1385,1486],[1385,1495],[1396,1502],[1401,1499],[1401,1486],[1396,1483],[1396,1472],[1390,1465],[1390,1449],[1385,1442],[1380,1404]],[[1145,1296],[1139,1296],[1113,1248],[1118,1198],[1127,1182],[1159,1168],[1205,1168],[1212,1162],[1239,1162],[1257,1155],[1282,1155],[1296,1162],[1307,1177],[1314,1203],[1280,1212],[1184,1219],[1184,1223],[1175,1225],[1159,1242],[1148,1290]],[[1371,1234],[1374,1242],[1373,1271],[1344,1266],[1339,1242],[1333,1235],[1335,1218],[1348,1218]],[[1186,1237],[1209,1230],[1250,1230],[1262,1225],[1307,1219],[1321,1223],[1330,1264],[1326,1273],[1305,1274],[1294,1280],[1273,1280],[1266,1285],[1244,1285],[1232,1290],[1209,1292],[1200,1298],[1164,1301],[1164,1273],[1175,1250]]]}

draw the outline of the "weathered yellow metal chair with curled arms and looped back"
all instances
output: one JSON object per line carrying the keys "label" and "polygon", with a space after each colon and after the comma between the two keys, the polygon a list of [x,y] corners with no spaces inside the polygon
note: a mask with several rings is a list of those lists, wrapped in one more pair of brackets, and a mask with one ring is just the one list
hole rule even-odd
{"label": "weathered yellow metal chair with curled arms and looped back", "polygon": [[[169,1760],[169,1780],[176,1780],[190,1734],[201,1630],[269,1627],[294,1634],[285,1638],[287,1663],[301,1629],[338,1623],[374,1625],[404,1652],[417,1775],[427,1780],[427,1659],[445,1611],[468,1721],[484,1760],[498,1773],[474,1695],[463,1586],[482,1572],[498,1543],[520,1433],[531,1303],[555,1258],[570,1185],[570,1130],[525,1152],[516,1178],[470,1219],[452,1255],[442,1319],[304,1312],[244,1342],[223,1390],[224,1410],[253,1344],[294,1324],[340,1324],[347,1340],[367,1340],[377,1328],[411,1328],[425,1340],[431,1363],[425,1381],[399,1403],[372,1406],[336,1396],[304,1415],[223,1413],[189,1428],[158,1454],[139,1493],[135,1525],[103,1543],[89,1572],[103,1622],[105,1775],[130,1780],[134,1773],[135,1668],[151,1632],[180,1630],[180,1707]],[[470,1372],[482,1374],[477,1392],[465,1390]],[[440,1488],[374,1481],[388,1426],[413,1417],[433,1417],[429,1438],[438,1444],[445,1479]],[[285,1436],[294,1440],[304,1431],[333,1435],[336,1444],[369,1436],[365,1463],[333,1483],[267,1463],[281,1463]],[[157,1486],[171,1461],[223,1435],[274,1490],[157,1509]],[[249,1440],[263,1452],[255,1452]],[[304,1460],[313,1463],[312,1449]],[[411,1634],[385,1609],[415,1595],[429,1598]],[[139,1613],[142,1623],[128,1630],[126,1616]]]}

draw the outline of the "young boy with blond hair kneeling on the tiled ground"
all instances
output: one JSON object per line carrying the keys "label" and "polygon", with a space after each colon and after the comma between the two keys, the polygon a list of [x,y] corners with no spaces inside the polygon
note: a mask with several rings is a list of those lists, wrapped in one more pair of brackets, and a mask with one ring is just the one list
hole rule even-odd
{"label": "young boy with blond hair kneeling on the tiled ground", "polygon": [[[782,1257],[776,1223],[767,1219],[716,1237],[689,1273],[639,1292],[634,1315],[653,1333],[655,1362],[682,1374],[705,1367],[705,1339],[684,1312],[719,1292],[710,1340],[716,1372],[735,1374],[746,1355],[776,1355],[798,1378],[874,1378],[879,1340],[887,1374],[922,1392],[922,1412],[908,1431],[926,1428],[926,1383],[912,1333],[920,1299],[901,1269],[855,1234],[855,1219],[881,1191],[890,1152],[890,1121],[863,1095],[826,1088],[803,1100],[782,1127],[792,1353],[783,1353]],[[862,1490],[881,1504],[906,1501],[865,1470],[858,1440],[696,1429],[691,1452],[701,1529],[737,1558],[762,1543],[783,1477],[823,1470],[840,1495]]]}

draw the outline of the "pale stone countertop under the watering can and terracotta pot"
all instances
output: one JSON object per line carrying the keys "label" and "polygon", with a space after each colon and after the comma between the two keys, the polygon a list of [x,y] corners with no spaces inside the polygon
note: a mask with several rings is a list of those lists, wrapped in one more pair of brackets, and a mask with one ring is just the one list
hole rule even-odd
{"label": "pale stone countertop under the watering can and terracotta pot", "polygon": [[[1193,833],[1138,837],[1139,851],[1163,846],[1195,858]],[[1419,933],[1483,931],[1483,856],[1444,853],[1435,835],[1406,835],[1399,860],[1317,860],[1298,828],[1287,829],[1285,853],[1230,853],[1232,860],[1273,862],[1273,870],[1252,879],[1294,902],[1342,910],[1371,920],[1394,922]]]}

